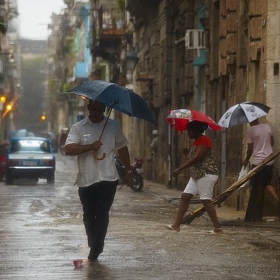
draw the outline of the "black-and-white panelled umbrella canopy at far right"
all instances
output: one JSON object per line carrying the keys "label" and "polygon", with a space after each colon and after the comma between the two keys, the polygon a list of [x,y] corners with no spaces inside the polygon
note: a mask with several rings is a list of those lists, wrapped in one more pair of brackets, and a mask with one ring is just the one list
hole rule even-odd
{"label": "black-and-white panelled umbrella canopy at far right", "polygon": [[267,115],[270,107],[258,102],[242,102],[230,107],[220,118],[218,124],[230,127],[243,123],[250,123]]}

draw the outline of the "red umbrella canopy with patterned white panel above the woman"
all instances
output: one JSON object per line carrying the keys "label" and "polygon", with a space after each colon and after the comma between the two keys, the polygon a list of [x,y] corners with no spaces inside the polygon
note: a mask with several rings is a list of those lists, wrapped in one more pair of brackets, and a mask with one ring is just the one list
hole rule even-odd
{"label": "red umbrella canopy with patterned white panel above the woman", "polygon": [[[199,111],[192,109],[177,109],[172,110],[167,116],[168,123],[174,127],[176,131],[186,130],[186,125],[191,121],[200,121],[207,124],[211,130],[221,130],[222,128],[210,117]],[[205,129],[207,129],[207,126]]]}

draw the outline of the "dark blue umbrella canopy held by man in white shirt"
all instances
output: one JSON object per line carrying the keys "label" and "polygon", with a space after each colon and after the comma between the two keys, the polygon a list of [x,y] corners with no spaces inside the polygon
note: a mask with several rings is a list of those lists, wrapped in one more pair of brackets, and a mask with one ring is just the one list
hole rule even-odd
{"label": "dark blue umbrella canopy held by man in white shirt", "polygon": [[144,99],[126,87],[102,80],[95,80],[83,83],[69,89],[67,92],[102,102],[106,107],[156,125],[153,114]]}

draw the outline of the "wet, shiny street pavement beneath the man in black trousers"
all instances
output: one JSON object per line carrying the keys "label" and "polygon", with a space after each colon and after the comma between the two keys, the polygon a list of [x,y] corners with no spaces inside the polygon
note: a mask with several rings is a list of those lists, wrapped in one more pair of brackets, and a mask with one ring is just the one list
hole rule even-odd
{"label": "wet, shiny street pavement beneath the man in black trousers", "polygon": [[[279,279],[279,227],[224,226],[211,234],[208,219],[165,229],[176,205],[152,184],[121,188],[111,209],[103,254],[88,263],[76,186],[75,158],[57,154],[56,183],[0,182],[0,279]],[[178,192],[178,196],[180,193]],[[74,259],[84,259],[74,268]]]}

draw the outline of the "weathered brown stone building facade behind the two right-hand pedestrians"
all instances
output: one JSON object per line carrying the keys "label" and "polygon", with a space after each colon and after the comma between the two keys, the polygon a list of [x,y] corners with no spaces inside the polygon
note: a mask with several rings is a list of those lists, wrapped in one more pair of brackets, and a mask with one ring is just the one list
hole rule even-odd
{"label": "weathered brown stone building facade behind the two right-hand pedestrians", "polygon": [[[134,71],[135,91],[150,102],[159,131],[159,152],[149,157],[151,127],[136,128],[133,146],[140,147],[150,166],[148,177],[182,188],[186,175],[172,179],[171,170],[184,160],[186,135],[167,125],[171,109],[192,108],[218,121],[230,106],[257,101],[271,107],[267,121],[279,148],[279,1],[127,1],[135,20],[139,62]],[[145,13],[143,13],[145,11]],[[188,30],[205,35],[203,48],[186,46]],[[205,47],[205,48],[204,48]],[[246,152],[246,125],[207,132],[214,143],[221,176],[220,193],[236,181]],[[137,142],[137,139],[141,139]],[[155,162],[156,161],[156,162]],[[278,160],[274,184],[278,187]],[[246,207],[247,192],[241,193]],[[233,195],[228,203],[236,203]]]}

